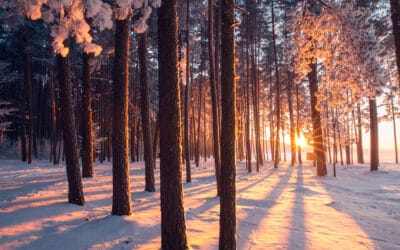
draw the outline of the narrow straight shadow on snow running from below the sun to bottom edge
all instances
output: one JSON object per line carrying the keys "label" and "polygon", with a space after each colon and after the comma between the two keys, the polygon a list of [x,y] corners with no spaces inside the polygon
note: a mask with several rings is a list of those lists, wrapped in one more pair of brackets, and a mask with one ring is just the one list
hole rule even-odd
{"label": "narrow straight shadow on snow running from below the sun to bottom edge", "polygon": [[304,211],[304,194],[301,190],[304,189],[303,183],[303,167],[297,167],[297,180],[295,184],[296,196],[292,210],[292,223],[290,226],[290,236],[288,239],[289,249],[305,249],[305,211]]}

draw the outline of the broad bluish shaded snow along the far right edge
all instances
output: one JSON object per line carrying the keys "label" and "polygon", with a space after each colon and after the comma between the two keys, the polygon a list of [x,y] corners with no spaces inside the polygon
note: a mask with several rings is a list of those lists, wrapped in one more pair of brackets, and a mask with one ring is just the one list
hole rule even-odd
{"label": "broad bluish shaded snow along the far right edge", "polygon": [[[371,179],[363,179],[362,182],[369,183],[369,188],[376,187],[371,193],[357,192],[351,188],[343,188],[340,185],[340,178],[343,172],[338,173],[334,179],[337,183],[329,183],[325,180],[319,181],[327,194],[335,201],[331,207],[339,212],[346,213],[364,231],[370,240],[375,244],[375,248],[381,249],[400,249],[399,240],[399,221],[400,206],[397,199],[383,197],[385,192],[392,190],[397,195],[396,189],[385,182],[385,175],[388,173],[378,170],[368,172],[365,167],[365,175],[371,175]],[[340,171],[340,167],[338,171]],[[382,179],[380,179],[382,177]],[[371,181],[373,183],[371,183]],[[364,183],[362,183],[364,184]],[[392,185],[399,184],[391,183]],[[370,186],[371,185],[371,186]],[[357,209],[355,209],[357,208]],[[385,211],[386,210],[386,211]],[[377,232],[381,232],[378,233]]]}

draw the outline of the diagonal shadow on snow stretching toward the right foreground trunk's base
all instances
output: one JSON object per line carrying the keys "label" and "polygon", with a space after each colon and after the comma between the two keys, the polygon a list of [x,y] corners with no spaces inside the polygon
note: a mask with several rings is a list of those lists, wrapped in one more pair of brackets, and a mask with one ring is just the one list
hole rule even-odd
{"label": "diagonal shadow on snow stretching toward the right foreground trunk's base", "polygon": [[[264,198],[262,201],[254,201],[254,200],[249,200],[249,199],[243,199],[243,198],[238,198],[238,204],[243,205],[243,204],[249,204],[249,205],[258,205],[260,207],[264,208],[263,213],[261,214],[260,217],[265,218],[269,214],[270,208],[272,208],[276,203],[277,203],[277,198],[282,194],[283,190],[285,189],[286,185],[289,182],[290,177],[292,176],[293,173],[293,167],[288,167],[286,169],[286,174],[284,176],[281,176],[281,179],[279,182],[275,185],[275,187],[271,190],[271,192]],[[268,180],[266,180],[268,181]],[[247,240],[250,238],[250,235],[252,234],[252,230],[250,227],[246,228],[246,226],[243,227],[243,229],[239,229],[240,225],[242,223],[247,223],[246,219],[250,218],[251,216],[251,211],[247,211],[247,217],[241,220],[241,222],[238,223],[238,232],[242,232],[240,235],[240,238],[238,240],[238,249],[244,249]],[[257,216],[258,217],[258,216]],[[258,223],[251,223],[252,228],[257,228],[260,225],[261,221]],[[249,223],[247,223],[249,224]],[[248,230],[246,230],[248,229]]]}

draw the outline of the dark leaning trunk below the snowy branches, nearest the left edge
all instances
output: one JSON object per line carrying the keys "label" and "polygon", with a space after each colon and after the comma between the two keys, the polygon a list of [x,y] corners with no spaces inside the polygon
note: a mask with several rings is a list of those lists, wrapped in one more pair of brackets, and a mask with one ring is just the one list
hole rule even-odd
{"label": "dark leaning trunk below the snowy branches, nearest the left edge", "polygon": [[60,85],[60,114],[64,136],[65,165],[68,179],[68,202],[84,205],[82,179],[79,169],[78,139],[75,129],[74,107],[68,57],[57,55]]}

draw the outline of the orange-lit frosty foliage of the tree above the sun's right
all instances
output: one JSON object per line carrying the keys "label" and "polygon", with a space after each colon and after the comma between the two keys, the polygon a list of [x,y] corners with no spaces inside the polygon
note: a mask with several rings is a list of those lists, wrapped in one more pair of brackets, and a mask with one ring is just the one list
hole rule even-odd
{"label": "orange-lit frosty foliage of the tree above the sun's right", "polygon": [[319,15],[297,13],[292,22],[296,83],[311,72],[310,65],[318,64],[317,110],[339,108],[348,113],[365,96],[375,101],[382,91],[387,78],[382,69],[386,55],[372,17],[369,8],[352,3],[331,3],[321,8]]}

